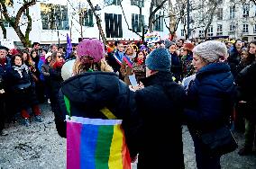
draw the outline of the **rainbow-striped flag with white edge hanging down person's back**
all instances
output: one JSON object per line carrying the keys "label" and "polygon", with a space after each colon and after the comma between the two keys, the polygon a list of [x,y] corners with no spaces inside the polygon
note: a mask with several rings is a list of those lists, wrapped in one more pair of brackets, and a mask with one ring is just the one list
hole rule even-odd
{"label": "rainbow-striped flag with white edge hanging down person's back", "polygon": [[131,169],[122,120],[66,118],[68,169]]}

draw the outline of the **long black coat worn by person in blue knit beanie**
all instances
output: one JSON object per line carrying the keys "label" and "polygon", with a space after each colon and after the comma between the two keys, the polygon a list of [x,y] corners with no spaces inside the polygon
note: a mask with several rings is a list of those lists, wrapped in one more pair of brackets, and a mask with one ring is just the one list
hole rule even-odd
{"label": "long black coat worn by person in blue knit beanie", "polygon": [[142,79],[135,92],[142,117],[138,168],[184,168],[181,115],[185,91],[170,72]]}

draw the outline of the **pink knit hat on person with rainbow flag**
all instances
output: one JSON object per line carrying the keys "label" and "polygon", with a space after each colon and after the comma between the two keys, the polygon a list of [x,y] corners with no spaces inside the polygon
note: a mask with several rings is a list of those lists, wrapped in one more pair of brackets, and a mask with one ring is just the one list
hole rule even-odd
{"label": "pink knit hat on person with rainbow flag", "polygon": [[105,56],[105,46],[100,40],[84,39],[78,43],[78,58],[91,57],[99,62]]}

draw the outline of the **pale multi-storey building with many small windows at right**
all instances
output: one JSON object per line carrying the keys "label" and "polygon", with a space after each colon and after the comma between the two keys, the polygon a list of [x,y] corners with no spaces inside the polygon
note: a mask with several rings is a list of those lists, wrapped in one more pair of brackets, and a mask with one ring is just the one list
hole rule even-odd
{"label": "pale multi-storey building with many small windows at right", "polygon": [[[204,2],[206,1],[197,0],[194,4],[202,5]],[[195,10],[191,11],[189,39],[204,39],[207,23],[204,22],[204,16],[208,14],[209,8],[211,6],[203,6],[203,9],[195,6]],[[180,22],[178,38],[185,38],[183,28],[184,23]],[[256,5],[249,0],[220,0],[214,13],[213,22],[207,30],[207,37],[256,40]]]}

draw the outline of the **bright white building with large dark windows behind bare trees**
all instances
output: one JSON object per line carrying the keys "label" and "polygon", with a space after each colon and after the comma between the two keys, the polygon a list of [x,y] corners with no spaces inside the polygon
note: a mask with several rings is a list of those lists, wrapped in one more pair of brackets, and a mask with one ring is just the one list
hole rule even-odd
{"label": "bright white building with large dark windows behind bare trees", "polygon": [[[91,2],[97,6],[96,12],[100,16],[106,40],[140,40],[140,36],[129,29],[142,34],[142,26],[148,25],[151,5],[149,1],[93,0]],[[121,2],[123,10],[120,6]],[[142,20],[140,8],[137,5],[142,6]],[[8,7],[8,13],[15,16],[20,7],[21,4],[14,2],[12,6]],[[156,18],[160,13],[156,13]],[[32,16],[32,31],[30,32],[32,42],[66,43],[67,34],[71,37],[72,43],[78,43],[79,38],[99,38],[96,18],[87,4],[87,0],[37,1],[30,7],[30,15]],[[3,16],[2,20],[5,22]],[[26,29],[27,21],[26,15],[23,14],[20,21],[23,31]],[[8,39],[20,41],[8,22],[5,22],[5,28]],[[169,34],[162,18],[154,22],[153,30],[158,31],[162,37]],[[3,38],[3,33],[0,29],[1,38]]]}

